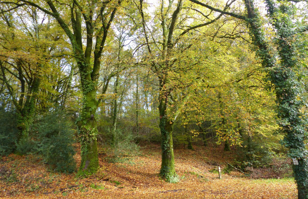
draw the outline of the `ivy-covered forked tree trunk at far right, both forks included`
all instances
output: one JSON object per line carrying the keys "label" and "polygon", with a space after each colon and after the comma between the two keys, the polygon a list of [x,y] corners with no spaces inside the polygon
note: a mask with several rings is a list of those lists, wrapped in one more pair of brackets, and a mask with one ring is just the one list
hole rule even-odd
{"label": "ivy-covered forked tree trunk at far right, both forks included", "polygon": [[298,186],[298,198],[308,199],[308,151],[305,146],[307,132],[303,121],[301,108],[302,90],[297,76],[298,58],[296,53],[296,37],[292,21],[292,7],[287,2],[281,2],[279,9],[272,0],[266,0],[267,9],[277,30],[277,44],[280,64],[276,66],[270,54],[261,29],[261,22],[253,7],[253,0],[244,0],[248,13],[248,27],[257,54],[264,67],[269,68],[269,80],[274,85],[278,104],[278,117],[281,131],[285,134],[284,144],[289,148],[289,156],[298,160],[299,165],[293,166],[295,180]]}

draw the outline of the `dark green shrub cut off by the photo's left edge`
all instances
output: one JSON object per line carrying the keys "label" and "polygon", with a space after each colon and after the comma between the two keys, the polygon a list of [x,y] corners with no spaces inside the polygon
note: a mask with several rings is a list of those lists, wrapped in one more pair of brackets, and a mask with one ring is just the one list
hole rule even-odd
{"label": "dark green shrub cut off by the photo's left edge", "polygon": [[0,156],[8,155],[16,150],[18,135],[16,114],[0,107]]}

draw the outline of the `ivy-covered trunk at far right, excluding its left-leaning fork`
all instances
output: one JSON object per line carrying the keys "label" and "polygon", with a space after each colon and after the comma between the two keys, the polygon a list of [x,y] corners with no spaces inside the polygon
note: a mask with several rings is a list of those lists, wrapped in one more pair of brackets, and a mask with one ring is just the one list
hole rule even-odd
{"label": "ivy-covered trunk at far right, excluding its left-leaning fork", "polygon": [[275,88],[279,125],[285,135],[284,145],[290,149],[289,156],[299,162],[299,165],[293,166],[298,197],[308,199],[308,150],[305,144],[308,136],[307,118],[303,117],[303,88],[297,74],[300,67],[297,50],[300,41],[297,34],[301,34],[302,30],[294,31],[297,27],[292,18],[294,5],[284,1],[277,5],[273,0],[266,0],[266,4],[277,30],[280,63],[270,71],[269,76]]}

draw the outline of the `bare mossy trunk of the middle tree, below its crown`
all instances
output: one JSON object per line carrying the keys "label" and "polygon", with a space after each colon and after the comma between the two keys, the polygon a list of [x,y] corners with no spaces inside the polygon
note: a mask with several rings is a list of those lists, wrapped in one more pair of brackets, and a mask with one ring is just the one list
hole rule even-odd
{"label": "bare mossy trunk of the middle tree, below its crown", "polygon": [[160,175],[170,182],[176,175],[174,168],[174,154],[173,154],[173,122],[167,115],[167,92],[164,92],[164,84],[160,81],[159,92],[159,129],[161,133],[161,167]]}

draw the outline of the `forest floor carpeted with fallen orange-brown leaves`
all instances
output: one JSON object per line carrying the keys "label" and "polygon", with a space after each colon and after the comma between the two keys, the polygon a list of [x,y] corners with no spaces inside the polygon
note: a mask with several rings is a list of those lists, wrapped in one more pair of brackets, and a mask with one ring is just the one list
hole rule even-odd
{"label": "forest floor carpeted with fallen orange-brown leaves", "polygon": [[[80,156],[75,156],[80,162]],[[159,177],[160,147],[148,144],[135,156],[99,154],[100,169],[88,178],[55,173],[35,156],[0,157],[0,198],[11,199],[296,199],[289,179],[250,179],[240,172],[218,178],[217,166],[234,159],[220,148],[175,149],[178,183]]]}

